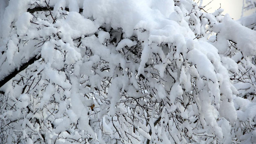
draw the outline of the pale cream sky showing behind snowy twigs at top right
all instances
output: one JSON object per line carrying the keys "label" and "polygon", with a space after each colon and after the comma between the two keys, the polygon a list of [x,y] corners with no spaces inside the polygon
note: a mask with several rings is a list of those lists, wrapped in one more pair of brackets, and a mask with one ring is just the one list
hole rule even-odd
{"label": "pale cream sky showing behind snowy twigs at top right", "polygon": [[[212,0],[203,0],[202,6],[205,6]],[[238,20],[242,15],[242,6],[243,0],[213,0],[204,10],[209,10],[207,12],[214,12],[216,9],[220,8],[224,9],[222,14],[228,13],[231,18],[234,20]],[[256,9],[255,9],[256,10]],[[250,10],[248,12],[244,12],[244,16],[248,16],[255,12],[255,10]]]}

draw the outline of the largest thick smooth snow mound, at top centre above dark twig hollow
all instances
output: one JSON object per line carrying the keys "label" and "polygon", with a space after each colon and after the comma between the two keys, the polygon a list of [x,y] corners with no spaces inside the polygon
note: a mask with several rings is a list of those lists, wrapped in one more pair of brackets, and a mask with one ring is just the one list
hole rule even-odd
{"label": "largest thick smooth snow mound, at top centre above dark twig hollow", "polygon": [[[112,8],[113,5],[118,8]],[[173,1],[85,0],[83,14],[88,18],[93,16],[96,26],[106,23],[114,29],[123,28],[125,37],[130,37],[134,33],[135,27],[137,29],[141,27],[137,24],[142,22],[149,29],[161,28],[165,24],[166,17],[169,17],[173,11]]]}

